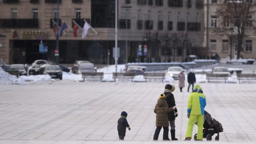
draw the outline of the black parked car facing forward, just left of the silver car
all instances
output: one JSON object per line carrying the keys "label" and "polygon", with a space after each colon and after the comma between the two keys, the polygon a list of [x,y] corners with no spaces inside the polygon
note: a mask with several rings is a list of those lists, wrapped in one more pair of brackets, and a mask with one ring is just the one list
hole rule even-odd
{"label": "black parked car facing forward, just left of the silver car", "polygon": [[49,74],[51,78],[59,78],[60,80],[62,80],[62,71],[60,69],[60,66],[58,65],[46,66],[44,74]]}

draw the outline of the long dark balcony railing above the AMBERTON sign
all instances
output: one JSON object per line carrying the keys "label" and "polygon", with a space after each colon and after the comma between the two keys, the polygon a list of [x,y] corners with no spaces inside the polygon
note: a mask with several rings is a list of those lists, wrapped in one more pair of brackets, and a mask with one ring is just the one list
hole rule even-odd
{"label": "long dark balcony railing above the AMBERTON sign", "polygon": [[0,19],[0,28],[38,28],[38,19]]}

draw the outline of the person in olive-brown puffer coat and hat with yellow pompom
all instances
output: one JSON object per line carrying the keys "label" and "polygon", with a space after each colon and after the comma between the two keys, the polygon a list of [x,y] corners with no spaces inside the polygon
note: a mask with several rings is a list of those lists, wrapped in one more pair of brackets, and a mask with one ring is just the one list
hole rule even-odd
{"label": "person in olive-brown puffer coat and hat with yellow pompom", "polygon": [[176,106],[168,108],[168,104],[165,100],[165,94],[161,94],[154,108],[154,113],[156,113],[156,130],[154,133],[153,140],[158,140],[158,136],[161,128],[164,129],[163,140],[170,140],[168,137],[169,132],[169,120],[167,113],[176,109]]}

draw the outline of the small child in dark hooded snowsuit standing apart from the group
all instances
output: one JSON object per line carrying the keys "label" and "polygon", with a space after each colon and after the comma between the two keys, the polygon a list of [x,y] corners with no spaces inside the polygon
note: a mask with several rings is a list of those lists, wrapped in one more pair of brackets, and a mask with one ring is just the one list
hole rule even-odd
{"label": "small child in dark hooded snowsuit standing apart from the group", "polygon": [[124,136],[126,133],[126,127],[128,128],[128,130],[131,130],[127,120],[127,113],[126,112],[121,112],[121,117],[118,119],[117,123],[117,130],[118,130],[118,136],[119,136],[119,140],[124,140]]}

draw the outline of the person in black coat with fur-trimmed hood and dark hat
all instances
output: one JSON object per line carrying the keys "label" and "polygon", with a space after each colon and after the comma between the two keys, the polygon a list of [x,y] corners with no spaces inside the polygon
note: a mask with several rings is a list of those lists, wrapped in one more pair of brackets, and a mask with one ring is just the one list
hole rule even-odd
{"label": "person in black coat with fur-trimmed hood and dark hat", "polygon": [[[175,99],[174,99],[174,95],[172,94],[172,92],[175,90],[174,85],[172,84],[166,84],[165,89],[164,89],[164,94],[166,95],[166,102],[168,104],[168,108],[172,108],[173,106],[176,106],[175,104]],[[167,114],[168,116],[168,120],[170,123],[170,127],[171,127],[171,137],[172,140],[178,140],[178,138],[175,138],[175,118],[178,116],[178,110],[177,108],[175,110],[173,110],[172,112],[168,112]]]}

